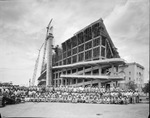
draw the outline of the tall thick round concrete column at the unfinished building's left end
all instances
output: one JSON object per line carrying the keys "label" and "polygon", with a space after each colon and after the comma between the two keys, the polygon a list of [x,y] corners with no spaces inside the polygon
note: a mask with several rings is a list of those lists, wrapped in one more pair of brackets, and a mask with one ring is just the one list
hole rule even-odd
{"label": "tall thick round concrete column at the unfinished building's left end", "polygon": [[52,86],[52,41],[53,41],[53,35],[50,33],[47,37],[46,86]]}

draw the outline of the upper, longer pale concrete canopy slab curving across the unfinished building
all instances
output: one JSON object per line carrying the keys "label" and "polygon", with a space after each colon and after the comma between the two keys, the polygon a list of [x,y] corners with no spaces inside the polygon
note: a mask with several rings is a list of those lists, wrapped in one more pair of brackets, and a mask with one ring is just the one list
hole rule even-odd
{"label": "upper, longer pale concrete canopy slab curving across the unfinished building", "polygon": [[121,58],[111,58],[111,59],[104,59],[104,60],[83,61],[83,62],[77,62],[74,64],[54,66],[52,67],[52,69],[55,70],[55,69],[71,68],[71,67],[77,67],[77,66],[111,65],[111,64],[117,64],[117,65],[125,64],[125,60]]}

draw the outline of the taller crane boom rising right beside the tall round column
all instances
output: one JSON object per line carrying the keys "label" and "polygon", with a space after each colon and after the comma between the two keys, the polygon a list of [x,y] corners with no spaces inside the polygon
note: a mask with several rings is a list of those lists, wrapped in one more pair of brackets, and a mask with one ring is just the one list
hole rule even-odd
{"label": "taller crane boom rising right beside the tall round column", "polygon": [[53,19],[50,20],[48,26],[47,26],[47,32],[46,32],[46,38],[45,38],[45,43],[44,43],[44,53],[43,53],[43,59],[42,59],[42,67],[41,67],[41,74],[43,72],[43,69],[44,69],[44,64],[45,64],[45,55],[46,55],[46,47],[47,47],[47,36],[48,36],[48,33],[49,31],[52,30],[53,27],[51,27],[51,22],[52,22]]}

